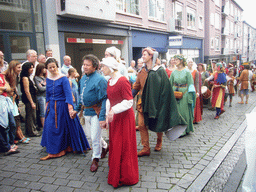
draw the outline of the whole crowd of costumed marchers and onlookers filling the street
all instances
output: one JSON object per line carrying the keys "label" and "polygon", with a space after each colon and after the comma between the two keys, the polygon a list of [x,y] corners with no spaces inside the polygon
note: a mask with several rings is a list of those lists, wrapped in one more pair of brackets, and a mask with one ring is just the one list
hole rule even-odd
{"label": "whole crowd of costumed marchers and onlookers filling the street", "polygon": [[[235,93],[239,104],[248,104],[255,85],[254,65],[237,69],[222,61],[207,66],[183,55],[160,61],[150,47],[128,69],[116,47],[107,48],[102,61],[86,55],[80,81],[68,55],[61,68],[50,49],[38,57],[31,49],[26,55],[25,62],[8,64],[0,51],[0,150],[4,155],[18,153],[17,144],[41,136],[42,127],[41,146],[48,155],[40,160],[92,150],[90,171],[96,172],[109,153],[108,183],[115,188],[139,181],[138,157],[150,156],[148,130],[156,132],[154,150],[161,151],[163,133],[176,139],[194,132],[204,107],[216,110],[214,119],[220,118],[228,98],[232,107]],[[25,117],[19,102],[25,105]],[[109,132],[108,143],[102,129]],[[143,145],[138,152],[136,130]]]}

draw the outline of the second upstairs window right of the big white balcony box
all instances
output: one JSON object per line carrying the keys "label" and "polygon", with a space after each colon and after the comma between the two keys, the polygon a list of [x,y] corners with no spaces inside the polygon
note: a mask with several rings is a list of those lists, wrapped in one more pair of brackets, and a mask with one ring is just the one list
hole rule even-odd
{"label": "second upstairs window right of the big white balcony box", "polygon": [[164,21],[164,0],[149,0],[149,17]]}

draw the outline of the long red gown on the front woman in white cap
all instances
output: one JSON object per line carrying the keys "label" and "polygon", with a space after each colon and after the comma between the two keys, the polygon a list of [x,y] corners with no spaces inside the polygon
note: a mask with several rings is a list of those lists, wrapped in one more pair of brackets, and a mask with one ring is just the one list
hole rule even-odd
{"label": "long red gown on the front woman in white cap", "polygon": [[[108,82],[107,95],[110,108],[123,100],[131,100],[131,84],[126,77],[120,77],[116,84]],[[115,114],[109,123],[109,173],[108,184],[134,185],[139,181],[135,115],[133,108]]]}

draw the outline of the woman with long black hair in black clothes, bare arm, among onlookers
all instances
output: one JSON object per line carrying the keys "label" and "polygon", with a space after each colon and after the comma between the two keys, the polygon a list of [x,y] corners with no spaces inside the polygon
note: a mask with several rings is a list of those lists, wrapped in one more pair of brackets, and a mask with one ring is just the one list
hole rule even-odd
{"label": "woman with long black hair in black clothes, bare arm, among onlookers", "polygon": [[30,79],[33,70],[33,63],[26,62],[22,65],[20,88],[22,93],[21,99],[26,109],[26,134],[30,137],[38,137],[41,135],[36,130],[36,87]]}

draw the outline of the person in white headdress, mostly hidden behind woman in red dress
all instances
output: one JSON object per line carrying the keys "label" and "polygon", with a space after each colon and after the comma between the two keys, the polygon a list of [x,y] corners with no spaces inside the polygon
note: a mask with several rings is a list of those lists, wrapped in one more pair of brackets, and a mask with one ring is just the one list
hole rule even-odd
{"label": "person in white headdress, mostly hidden behind woman in red dress", "polygon": [[119,73],[121,73],[123,76],[125,76],[127,79],[129,79],[128,71],[127,71],[125,65],[122,64],[122,61],[121,61],[121,51],[118,48],[116,48],[115,46],[108,47],[105,51],[105,58],[107,58],[107,57],[115,58],[116,61],[118,62]]}

